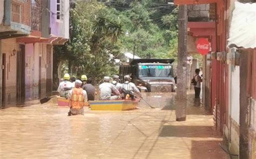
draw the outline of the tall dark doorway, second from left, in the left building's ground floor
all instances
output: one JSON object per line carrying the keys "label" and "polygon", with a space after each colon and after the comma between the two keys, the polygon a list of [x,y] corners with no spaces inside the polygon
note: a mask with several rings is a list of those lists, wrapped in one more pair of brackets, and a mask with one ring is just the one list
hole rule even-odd
{"label": "tall dark doorway, second from left, in the left building's ground floor", "polygon": [[25,45],[19,45],[17,52],[17,102],[25,100]]}

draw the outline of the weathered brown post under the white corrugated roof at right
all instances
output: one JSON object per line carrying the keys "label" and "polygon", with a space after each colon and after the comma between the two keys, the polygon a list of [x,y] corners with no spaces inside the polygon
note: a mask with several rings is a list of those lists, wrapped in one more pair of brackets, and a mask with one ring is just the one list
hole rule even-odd
{"label": "weathered brown post under the white corrugated roof at right", "polygon": [[[255,2],[255,0],[239,0],[241,3]],[[248,80],[251,74],[251,59],[248,50],[240,50],[240,115],[239,115],[239,158],[253,158],[253,131],[251,130],[251,103],[250,93],[247,88],[250,88]]]}

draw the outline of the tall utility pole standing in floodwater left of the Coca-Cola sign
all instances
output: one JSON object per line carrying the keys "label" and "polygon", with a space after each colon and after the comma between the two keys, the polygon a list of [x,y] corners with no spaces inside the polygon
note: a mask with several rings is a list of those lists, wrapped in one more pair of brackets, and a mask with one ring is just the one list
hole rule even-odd
{"label": "tall utility pole standing in floodwater left of the Coca-Cola sign", "polygon": [[179,5],[179,44],[177,67],[176,121],[186,120],[186,67],[187,67],[187,5]]}

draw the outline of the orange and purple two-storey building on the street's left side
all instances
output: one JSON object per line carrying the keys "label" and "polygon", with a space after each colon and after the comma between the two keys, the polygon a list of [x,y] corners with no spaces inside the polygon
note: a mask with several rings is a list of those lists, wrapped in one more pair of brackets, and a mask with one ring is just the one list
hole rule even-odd
{"label": "orange and purple two-storey building on the street's left side", "polygon": [[51,95],[52,46],[63,45],[69,39],[69,1],[1,3],[2,103],[14,104]]}

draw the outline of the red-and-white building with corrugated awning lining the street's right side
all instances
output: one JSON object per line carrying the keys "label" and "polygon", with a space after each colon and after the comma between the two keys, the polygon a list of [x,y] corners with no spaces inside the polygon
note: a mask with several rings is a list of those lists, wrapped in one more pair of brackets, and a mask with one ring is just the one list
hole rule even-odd
{"label": "red-and-white building with corrugated awning lining the street's right side", "polygon": [[[255,1],[177,0],[188,5],[188,52],[198,38],[211,44],[203,57],[203,103],[213,113],[223,146],[255,158]],[[208,11],[207,11],[208,10]]]}

